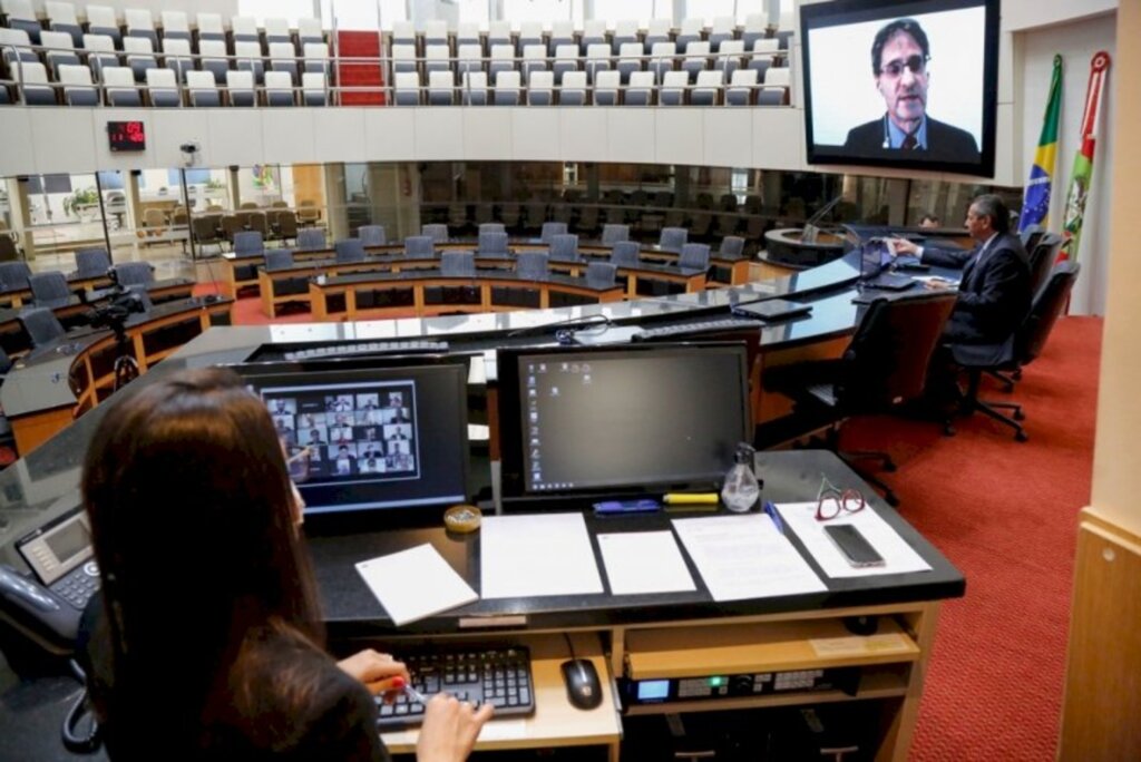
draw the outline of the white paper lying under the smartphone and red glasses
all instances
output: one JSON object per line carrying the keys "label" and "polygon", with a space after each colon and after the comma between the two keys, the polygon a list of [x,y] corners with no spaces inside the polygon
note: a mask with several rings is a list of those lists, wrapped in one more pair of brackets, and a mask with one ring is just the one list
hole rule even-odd
{"label": "white paper lying under the smartphone and red glasses", "polygon": [[[777,505],[785,527],[796,533],[804,549],[812,554],[830,577],[871,577],[877,574],[930,572],[931,566],[900,537],[891,525],[867,505],[863,511],[844,513],[831,521],[816,520],[816,502],[780,503]],[[883,566],[856,567],[848,562],[840,549],[824,534],[830,524],[850,524],[872,543],[883,557]]]}

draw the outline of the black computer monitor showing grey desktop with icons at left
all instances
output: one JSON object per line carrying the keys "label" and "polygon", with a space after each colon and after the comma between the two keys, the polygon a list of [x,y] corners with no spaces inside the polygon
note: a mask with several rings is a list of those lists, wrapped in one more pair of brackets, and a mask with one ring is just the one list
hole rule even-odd
{"label": "black computer monitor showing grey desktop with icons at left", "polygon": [[501,350],[504,501],[717,488],[752,440],[743,343]]}

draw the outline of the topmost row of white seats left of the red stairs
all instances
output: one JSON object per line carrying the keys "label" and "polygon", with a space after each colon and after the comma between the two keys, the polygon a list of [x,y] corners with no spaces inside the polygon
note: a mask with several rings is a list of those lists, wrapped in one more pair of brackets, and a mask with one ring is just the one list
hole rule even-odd
{"label": "topmost row of white seats left of the red stairs", "polygon": [[232,16],[227,30],[221,14],[200,11],[195,14],[195,24],[192,27],[189,16],[185,11],[163,10],[160,14],[160,25],[155,25],[154,15],[146,8],[127,8],[120,17],[110,6],[89,5],[86,7],[86,23],[81,23],[75,6],[71,2],[49,0],[43,6],[46,18],[41,19],[31,0],[0,0],[5,25],[27,32],[37,43],[46,29],[70,34],[76,47],[80,46],[84,32],[104,34],[114,40],[119,50],[123,49],[123,40],[129,38],[145,38],[152,42],[155,50],[165,49],[161,46],[165,46],[170,40],[225,42],[229,39],[234,42],[265,41],[268,46],[274,42],[293,42],[296,39],[298,50],[306,42],[324,42],[324,31],[318,18],[299,18],[294,34],[289,19],[281,17],[266,18],[265,26],[259,27],[252,16]]}

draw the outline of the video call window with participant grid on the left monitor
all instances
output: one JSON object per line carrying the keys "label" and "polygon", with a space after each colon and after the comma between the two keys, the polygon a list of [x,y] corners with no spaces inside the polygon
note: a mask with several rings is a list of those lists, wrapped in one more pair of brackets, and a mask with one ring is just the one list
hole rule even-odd
{"label": "video call window with participant grid on the left monitor", "polygon": [[266,387],[290,475],[309,486],[419,479],[415,384]]}

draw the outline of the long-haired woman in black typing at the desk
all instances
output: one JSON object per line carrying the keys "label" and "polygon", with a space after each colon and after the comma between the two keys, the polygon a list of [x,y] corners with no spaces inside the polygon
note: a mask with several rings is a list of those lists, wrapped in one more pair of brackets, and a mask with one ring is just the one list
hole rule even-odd
{"label": "long-haired woman in black typing at the desk", "polygon": [[[372,694],[395,695],[407,670],[323,650],[304,505],[236,375],[184,372],[115,405],[83,500],[103,575],[88,674],[111,759],[388,757]],[[177,536],[162,538],[167,517]],[[463,760],[488,716],[434,697],[416,759]]]}

